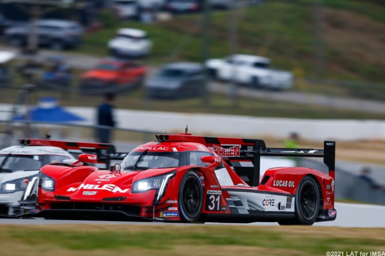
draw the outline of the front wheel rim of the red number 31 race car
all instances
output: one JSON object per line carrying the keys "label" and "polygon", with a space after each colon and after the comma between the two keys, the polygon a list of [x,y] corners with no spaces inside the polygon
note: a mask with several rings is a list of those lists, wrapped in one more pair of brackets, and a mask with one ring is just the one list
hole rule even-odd
{"label": "front wheel rim of the red number 31 race car", "polygon": [[199,213],[201,193],[200,184],[194,177],[188,177],[182,189],[182,205],[189,217],[194,217]]}

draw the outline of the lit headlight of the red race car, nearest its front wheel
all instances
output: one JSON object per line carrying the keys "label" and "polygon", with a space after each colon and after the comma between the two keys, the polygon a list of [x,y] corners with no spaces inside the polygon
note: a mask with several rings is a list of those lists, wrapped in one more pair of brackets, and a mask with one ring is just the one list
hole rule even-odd
{"label": "lit headlight of the red race car, nearest its front wheel", "polygon": [[161,176],[151,177],[143,180],[138,180],[132,184],[132,193],[141,193],[151,189],[158,190],[156,200],[162,198],[166,190],[168,181],[175,176],[175,171]]}

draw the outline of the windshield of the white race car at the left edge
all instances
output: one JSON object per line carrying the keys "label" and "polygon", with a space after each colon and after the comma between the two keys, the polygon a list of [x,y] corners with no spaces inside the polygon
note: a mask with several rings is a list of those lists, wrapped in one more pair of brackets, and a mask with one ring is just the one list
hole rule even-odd
{"label": "windshield of the white race car at the left edge", "polygon": [[13,173],[18,170],[40,170],[43,165],[60,163],[66,156],[59,155],[0,155],[0,173]]}

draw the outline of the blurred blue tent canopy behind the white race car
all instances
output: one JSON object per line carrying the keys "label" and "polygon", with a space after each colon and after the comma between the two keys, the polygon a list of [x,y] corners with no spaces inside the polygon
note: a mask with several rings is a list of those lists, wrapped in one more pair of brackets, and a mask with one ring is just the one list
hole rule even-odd
{"label": "blurred blue tent canopy behind the white race car", "polygon": [[38,105],[28,113],[18,115],[13,120],[31,120],[36,122],[75,122],[85,121],[84,118],[66,111],[57,104],[57,100],[52,97],[42,98]]}

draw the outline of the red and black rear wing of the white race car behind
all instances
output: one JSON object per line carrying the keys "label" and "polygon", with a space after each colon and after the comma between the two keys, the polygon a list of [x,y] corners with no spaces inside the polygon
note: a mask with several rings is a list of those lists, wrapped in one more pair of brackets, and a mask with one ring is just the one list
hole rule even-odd
{"label": "red and black rear wing of the white race car behind", "polygon": [[20,139],[21,145],[25,146],[56,146],[63,148],[74,157],[80,154],[92,154],[98,156],[98,163],[105,163],[107,168],[110,165],[111,159],[123,159],[123,153],[116,153],[115,146],[105,143],[91,143],[91,142],[71,142],[50,139]]}

